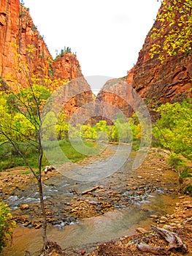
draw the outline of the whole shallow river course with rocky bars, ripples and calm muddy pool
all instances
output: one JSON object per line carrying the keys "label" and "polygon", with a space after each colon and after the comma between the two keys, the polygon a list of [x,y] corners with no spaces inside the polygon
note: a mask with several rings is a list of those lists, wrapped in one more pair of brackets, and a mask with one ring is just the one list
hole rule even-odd
{"label": "whole shallow river course with rocky bars, ripples and calm muddy pool", "polygon": [[[177,176],[166,165],[164,154],[151,151],[145,162],[132,170],[135,154],[131,153],[118,171],[97,181],[78,181],[61,172],[44,176],[45,203],[50,219],[48,238],[57,241],[63,249],[73,246],[91,250],[94,244],[134,233],[139,225],[149,227],[153,222],[151,215],[171,213],[177,202],[174,193],[177,192]],[[103,160],[108,161],[108,158]],[[87,169],[97,165],[100,169],[102,165],[110,167],[101,159],[83,163]],[[96,191],[81,194],[96,185],[99,186]],[[36,187],[28,181],[27,189],[24,188],[23,185],[22,190],[11,189],[11,195],[4,193],[4,199],[18,218],[18,226],[12,246],[3,255],[21,256],[26,250],[35,253],[42,246],[41,230],[33,228],[34,222],[41,223]],[[21,203],[28,203],[29,208],[20,211]]]}

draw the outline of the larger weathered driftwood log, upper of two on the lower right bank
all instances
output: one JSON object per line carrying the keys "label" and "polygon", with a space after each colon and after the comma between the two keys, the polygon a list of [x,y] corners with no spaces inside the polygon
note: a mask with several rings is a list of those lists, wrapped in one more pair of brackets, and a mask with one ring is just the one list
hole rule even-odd
{"label": "larger weathered driftwood log, upper of two on the lower right bank", "polygon": [[187,252],[187,246],[183,244],[183,241],[176,233],[166,230],[164,228],[155,227],[153,225],[151,226],[151,228],[166,239],[166,241],[169,243],[168,250],[180,249],[183,253]]}

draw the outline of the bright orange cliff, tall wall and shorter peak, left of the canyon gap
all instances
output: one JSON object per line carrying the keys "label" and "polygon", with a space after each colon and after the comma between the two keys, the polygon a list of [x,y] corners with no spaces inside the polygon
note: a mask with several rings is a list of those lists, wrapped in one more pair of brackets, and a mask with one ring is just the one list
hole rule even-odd
{"label": "bright orange cliff, tall wall and shorter peak, left of the canyon gap", "polygon": [[[82,78],[80,64],[74,54],[64,52],[52,59],[28,10],[20,5],[19,0],[1,0],[0,45],[0,90],[5,89],[6,83],[12,89],[15,89],[15,83],[23,83],[27,87],[29,72],[37,78],[60,80],[60,85],[62,80]],[[80,105],[93,100],[91,88],[84,78],[80,83],[74,81],[71,85],[74,91],[86,92],[69,99],[66,113],[70,115]]]}

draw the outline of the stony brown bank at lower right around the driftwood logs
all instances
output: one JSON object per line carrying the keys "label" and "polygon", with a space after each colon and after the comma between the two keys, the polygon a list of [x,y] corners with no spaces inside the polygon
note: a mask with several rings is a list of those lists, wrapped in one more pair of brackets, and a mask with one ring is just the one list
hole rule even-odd
{"label": "stony brown bank at lower right around the driftwood logs", "polygon": [[[153,215],[153,225],[166,229],[170,234],[175,233],[183,242],[183,246],[177,244],[176,249],[171,248],[170,244],[163,236],[145,226],[138,227],[133,236],[123,236],[115,241],[107,241],[99,244],[97,248],[89,256],[101,255],[192,255],[192,199],[183,195],[179,197],[178,202],[174,206],[172,214],[165,216]],[[183,247],[185,249],[183,249]],[[143,251],[142,251],[143,250]],[[84,251],[85,252],[85,251]],[[75,255],[71,254],[68,255]],[[76,254],[77,255],[77,254]],[[80,255],[80,254],[79,254]]]}

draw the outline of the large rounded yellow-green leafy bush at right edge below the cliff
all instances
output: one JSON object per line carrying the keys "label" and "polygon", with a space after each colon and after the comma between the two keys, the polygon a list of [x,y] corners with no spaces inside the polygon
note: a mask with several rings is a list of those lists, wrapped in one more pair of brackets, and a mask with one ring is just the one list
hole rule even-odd
{"label": "large rounded yellow-green leafy bush at right edge below the cliff", "polygon": [[157,110],[160,119],[153,127],[153,136],[161,146],[184,157],[192,157],[192,105],[191,99],[181,104],[166,103]]}

